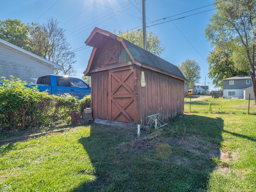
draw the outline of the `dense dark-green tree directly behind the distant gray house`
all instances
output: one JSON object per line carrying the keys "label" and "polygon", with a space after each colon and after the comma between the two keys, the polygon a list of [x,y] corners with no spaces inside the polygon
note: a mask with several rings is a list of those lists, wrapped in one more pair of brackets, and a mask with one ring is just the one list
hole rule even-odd
{"label": "dense dark-green tree directly behind the distant gray house", "polygon": [[248,70],[239,70],[232,61],[232,50],[215,48],[207,58],[209,63],[209,78],[212,79],[214,87],[222,88],[222,79],[238,75],[247,75]]}

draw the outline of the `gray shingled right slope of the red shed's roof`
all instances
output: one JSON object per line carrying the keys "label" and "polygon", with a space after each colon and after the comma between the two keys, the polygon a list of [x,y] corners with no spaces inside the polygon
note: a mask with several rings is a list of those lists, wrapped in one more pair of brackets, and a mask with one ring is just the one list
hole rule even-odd
{"label": "gray shingled right slope of the red shed's roof", "polygon": [[124,42],[136,61],[186,79],[182,72],[180,71],[180,69],[178,68],[178,66],[171,64],[170,62],[136,46],[135,44],[125,39]]}

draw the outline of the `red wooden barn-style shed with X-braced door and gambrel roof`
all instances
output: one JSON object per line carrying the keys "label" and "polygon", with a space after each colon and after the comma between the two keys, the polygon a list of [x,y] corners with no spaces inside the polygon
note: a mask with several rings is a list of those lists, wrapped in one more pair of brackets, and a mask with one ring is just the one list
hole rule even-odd
{"label": "red wooden barn-style shed with X-braced door and gambrel roof", "polygon": [[183,114],[186,79],[177,66],[100,28],[85,43],[93,47],[84,75],[92,77],[94,119],[147,124],[152,114]]}

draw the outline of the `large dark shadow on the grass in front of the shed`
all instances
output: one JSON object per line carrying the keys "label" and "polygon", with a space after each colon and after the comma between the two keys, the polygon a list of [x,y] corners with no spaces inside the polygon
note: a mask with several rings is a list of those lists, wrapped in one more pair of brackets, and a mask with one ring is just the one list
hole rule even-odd
{"label": "large dark shadow on the grass in front of the shed", "polygon": [[[182,136],[186,125],[186,140]],[[89,154],[96,179],[72,192],[204,191],[219,157],[223,120],[188,115],[168,122],[152,140],[136,139],[136,130],[91,125],[79,142]]]}

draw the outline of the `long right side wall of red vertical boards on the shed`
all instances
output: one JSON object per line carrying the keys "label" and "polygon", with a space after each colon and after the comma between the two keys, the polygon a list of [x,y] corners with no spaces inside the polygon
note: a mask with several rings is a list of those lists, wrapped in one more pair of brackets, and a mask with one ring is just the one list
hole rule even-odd
{"label": "long right side wall of red vertical boards on the shed", "polygon": [[163,121],[183,114],[184,81],[146,68],[140,71],[144,71],[146,81],[141,88],[141,124],[146,124],[147,116],[156,113],[160,113]]}

